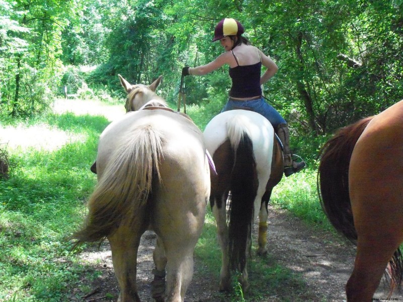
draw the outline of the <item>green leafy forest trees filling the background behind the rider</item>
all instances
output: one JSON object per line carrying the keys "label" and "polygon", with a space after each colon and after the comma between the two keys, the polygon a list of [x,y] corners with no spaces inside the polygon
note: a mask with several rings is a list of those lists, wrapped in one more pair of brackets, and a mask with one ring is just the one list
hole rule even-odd
{"label": "green leafy forest trees filling the background behind the rider", "polygon": [[[175,103],[181,68],[209,63],[223,51],[211,38],[224,17],[240,20],[244,35],[280,67],[265,95],[301,135],[326,135],[403,95],[401,1],[0,4],[2,118],[46,111],[60,83],[72,93],[81,89],[82,74],[71,67],[62,73],[61,62],[97,66],[85,77],[88,97],[107,91],[123,98],[118,73],[133,84],[163,75],[160,95]],[[185,82],[187,103],[200,107],[222,102],[230,86],[227,67]]]}

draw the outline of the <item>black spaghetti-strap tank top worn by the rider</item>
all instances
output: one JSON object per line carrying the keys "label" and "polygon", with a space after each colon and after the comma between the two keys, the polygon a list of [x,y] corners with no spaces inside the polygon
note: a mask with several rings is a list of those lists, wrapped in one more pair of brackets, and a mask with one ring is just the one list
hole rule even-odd
{"label": "black spaghetti-strap tank top worn by the rider", "polygon": [[[238,64],[230,68],[229,74],[232,80],[230,97],[234,98],[249,98],[261,95],[260,87],[260,69],[261,60],[252,65],[239,65],[238,60],[231,50]],[[259,55],[260,59],[260,55]]]}

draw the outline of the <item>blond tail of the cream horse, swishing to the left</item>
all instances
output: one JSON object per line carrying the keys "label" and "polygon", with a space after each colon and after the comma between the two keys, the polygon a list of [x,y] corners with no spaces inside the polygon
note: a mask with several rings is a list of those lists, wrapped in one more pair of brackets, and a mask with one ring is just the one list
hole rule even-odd
{"label": "blond tail of the cream horse, swishing to the left", "polygon": [[123,139],[88,202],[84,228],[73,235],[74,248],[85,242],[102,242],[122,220],[139,222],[153,180],[161,181],[158,163],[161,133],[150,125],[136,128]]}

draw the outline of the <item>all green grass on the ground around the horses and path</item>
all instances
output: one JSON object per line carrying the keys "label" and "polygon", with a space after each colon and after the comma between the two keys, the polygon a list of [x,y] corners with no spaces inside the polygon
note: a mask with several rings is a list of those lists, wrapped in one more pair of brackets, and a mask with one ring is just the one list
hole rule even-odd
{"label": "all green grass on the ground around the horses and path", "polygon": [[[212,112],[188,106],[189,115],[201,129]],[[66,238],[82,223],[85,202],[96,183],[89,167],[96,158],[98,137],[108,123],[103,116],[59,113],[23,125],[27,129],[45,125],[80,139],[67,139],[53,148],[9,150],[10,179],[0,180],[1,301],[68,301],[72,288],[85,286],[80,280],[99,276],[100,272],[70,252]],[[38,134],[35,139],[44,138]],[[275,188],[272,203],[327,228],[315,190],[315,172],[307,169],[284,179]],[[219,280],[220,254],[216,223],[208,211],[195,251],[195,257],[205,264],[200,273]],[[292,288],[285,301],[303,300],[305,284],[297,273],[270,257],[253,257],[249,265],[251,292],[244,294],[234,278],[234,293],[217,293],[218,300],[263,301],[267,292],[280,295],[284,284]]]}

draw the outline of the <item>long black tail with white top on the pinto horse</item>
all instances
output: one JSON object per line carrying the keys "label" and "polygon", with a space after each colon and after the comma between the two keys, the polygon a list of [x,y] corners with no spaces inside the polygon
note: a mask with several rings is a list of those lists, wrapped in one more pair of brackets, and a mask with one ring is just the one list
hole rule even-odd
{"label": "long black tail with white top on the pinto horse", "polygon": [[227,133],[234,151],[230,179],[228,212],[229,258],[233,270],[242,272],[250,254],[254,199],[257,190],[256,163],[253,143],[241,118],[227,124]]}

